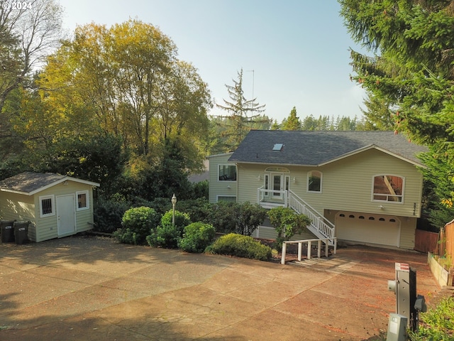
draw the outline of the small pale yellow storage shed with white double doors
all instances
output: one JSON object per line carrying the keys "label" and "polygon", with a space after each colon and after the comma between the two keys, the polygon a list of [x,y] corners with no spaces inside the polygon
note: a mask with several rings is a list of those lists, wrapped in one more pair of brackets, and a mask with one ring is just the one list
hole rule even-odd
{"label": "small pale yellow storage shed with white double doors", "polygon": [[0,181],[2,220],[30,221],[33,242],[93,227],[93,188],[99,183],[54,173],[21,173]]}

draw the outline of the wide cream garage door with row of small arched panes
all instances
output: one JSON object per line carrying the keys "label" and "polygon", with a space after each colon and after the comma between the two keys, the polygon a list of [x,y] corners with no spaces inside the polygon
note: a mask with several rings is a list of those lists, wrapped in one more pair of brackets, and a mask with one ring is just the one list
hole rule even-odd
{"label": "wide cream garage door with row of small arched panes", "polygon": [[339,212],[336,215],[336,237],[353,242],[399,247],[400,222],[389,215],[367,215]]}

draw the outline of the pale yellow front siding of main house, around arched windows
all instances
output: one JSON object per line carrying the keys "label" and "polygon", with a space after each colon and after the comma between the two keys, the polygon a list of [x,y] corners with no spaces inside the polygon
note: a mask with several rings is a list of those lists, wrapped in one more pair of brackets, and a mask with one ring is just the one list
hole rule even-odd
{"label": "pale yellow front siding of main house, around arched windows", "polygon": [[[264,185],[268,166],[238,165],[238,202],[257,202],[257,190]],[[321,167],[285,166],[289,170],[289,189],[334,223],[338,211],[393,215],[401,222],[399,247],[414,248],[416,218],[421,213],[422,174],[416,166],[387,153],[370,149]],[[307,173],[321,171],[321,193],[308,193]],[[402,202],[373,201],[375,175],[398,175],[404,178]],[[260,177],[259,177],[260,175]],[[381,208],[382,207],[382,208]],[[262,228],[256,237],[274,239],[275,232]],[[294,239],[313,238],[310,232]]]}

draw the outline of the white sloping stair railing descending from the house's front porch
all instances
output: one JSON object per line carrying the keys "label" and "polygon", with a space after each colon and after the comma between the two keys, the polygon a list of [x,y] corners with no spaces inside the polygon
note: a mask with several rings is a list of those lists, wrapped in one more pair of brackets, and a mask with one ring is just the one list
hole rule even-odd
{"label": "white sloping stair railing descending from the house's front porch", "polygon": [[326,220],[323,215],[317,212],[311,205],[301,199],[298,195],[289,190],[288,205],[298,214],[309,217],[311,224],[308,229],[316,234],[317,237],[329,239],[329,244],[334,244],[334,224]]}

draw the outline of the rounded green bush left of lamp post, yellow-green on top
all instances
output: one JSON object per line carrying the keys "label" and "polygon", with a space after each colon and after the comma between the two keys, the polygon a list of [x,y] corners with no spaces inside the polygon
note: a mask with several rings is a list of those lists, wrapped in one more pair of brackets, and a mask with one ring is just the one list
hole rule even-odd
{"label": "rounded green bush left of lamp post, yellow-green on top", "polygon": [[114,232],[114,237],[125,244],[145,244],[150,229],[155,228],[160,215],[151,207],[134,207],[125,212],[121,229]]}

